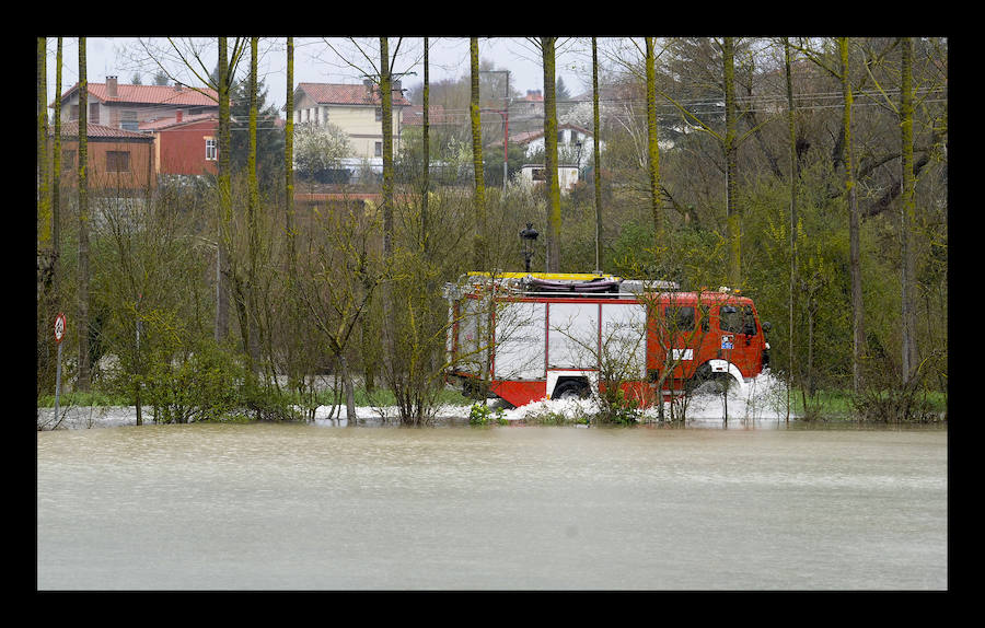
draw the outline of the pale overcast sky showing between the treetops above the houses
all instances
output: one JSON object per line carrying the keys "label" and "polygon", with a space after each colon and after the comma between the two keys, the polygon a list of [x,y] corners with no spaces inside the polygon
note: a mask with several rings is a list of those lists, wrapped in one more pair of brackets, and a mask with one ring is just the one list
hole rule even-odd
{"label": "pale overcast sky showing between the treetops above the houses", "polygon": [[[147,38],[146,38],[147,39]],[[166,48],[167,42],[161,37],[149,38],[153,45]],[[396,45],[396,37],[390,39],[391,55]],[[209,42],[199,38],[198,42]],[[259,44],[260,61],[258,63],[260,78],[268,90],[267,103],[282,107],[287,90],[287,57],[285,51],[285,37],[262,38]],[[366,68],[368,62],[361,58],[351,43],[331,38],[336,50],[345,54],[352,65]],[[364,39],[368,50],[375,50],[379,56],[378,40]],[[404,86],[419,85],[424,80],[421,57],[422,38],[404,38],[399,49],[399,58],[393,70],[395,72],[416,72],[404,77]],[[56,37],[48,37],[48,102],[55,98],[55,49]],[[209,42],[206,50],[212,55],[208,59],[209,69],[215,67],[215,42]],[[62,39],[62,93],[79,80],[79,46],[76,37]],[[528,90],[543,89],[543,74],[540,56],[534,45],[523,37],[480,37],[479,57],[490,60],[497,69],[510,70],[510,86],[513,91],[524,94]],[[430,80],[440,81],[445,78],[459,78],[467,75],[470,71],[470,53],[467,37],[432,37],[429,53]],[[172,72],[185,82],[200,86],[200,82],[181,67],[178,61],[165,61]],[[577,95],[590,88],[583,77],[591,69],[591,53],[587,40],[566,39],[558,50],[556,75],[563,78],[565,85],[571,95]],[[247,57],[242,63],[245,71],[248,69]],[[140,71],[143,84],[153,82],[154,69],[147,53],[136,37],[89,37],[86,38],[86,73],[92,83],[103,83],[107,75],[115,75],[121,84],[129,84],[134,73]],[[294,38],[294,84],[301,82],[323,83],[358,83],[362,78],[359,70],[341,60],[339,56],[328,48],[321,37]]]}

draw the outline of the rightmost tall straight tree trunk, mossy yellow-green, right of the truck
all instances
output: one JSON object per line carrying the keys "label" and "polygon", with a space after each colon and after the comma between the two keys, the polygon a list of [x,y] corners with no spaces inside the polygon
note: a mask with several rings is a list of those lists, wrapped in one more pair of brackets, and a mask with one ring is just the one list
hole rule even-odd
{"label": "rightmost tall straight tree trunk, mossy yellow-green, right of the truck", "polygon": [[903,247],[903,384],[908,384],[916,365],[916,261],[914,255],[914,202],[913,175],[913,42],[902,37],[902,81],[900,85],[900,129],[902,143],[903,184],[902,223],[900,240]]}

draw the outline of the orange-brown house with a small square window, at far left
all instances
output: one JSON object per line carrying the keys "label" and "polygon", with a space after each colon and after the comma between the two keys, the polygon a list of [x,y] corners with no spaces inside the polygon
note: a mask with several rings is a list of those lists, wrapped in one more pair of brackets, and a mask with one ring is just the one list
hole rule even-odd
{"label": "orange-brown house with a small square window, at far left", "polygon": [[[50,139],[49,139],[49,146]],[[154,187],[154,137],[105,125],[89,124],[86,183],[91,190],[113,196],[139,196]],[[61,186],[79,182],[79,123],[61,125]]]}

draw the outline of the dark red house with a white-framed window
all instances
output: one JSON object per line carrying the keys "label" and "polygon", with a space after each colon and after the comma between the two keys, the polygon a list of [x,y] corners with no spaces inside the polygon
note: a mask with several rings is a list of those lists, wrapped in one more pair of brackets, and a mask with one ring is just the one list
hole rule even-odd
{"label": "dark red house with a white-framed window", "polygon": [[210,112],[140,123],[141,132],[154,138],[155,174],[217,174],[219,160],[219,115]]}

